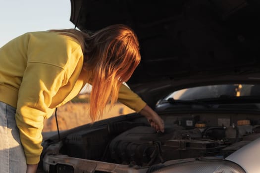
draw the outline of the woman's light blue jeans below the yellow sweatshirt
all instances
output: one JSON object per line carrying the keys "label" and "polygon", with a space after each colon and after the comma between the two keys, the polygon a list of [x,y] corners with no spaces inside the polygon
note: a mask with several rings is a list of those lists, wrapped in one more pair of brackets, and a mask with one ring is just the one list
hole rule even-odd
{"label": "woman's light blue jeans below the yellow sweatshirt", "polygon": [[16,109],[0,102],[0,173],[26,173],[26,159],[15,123]]}

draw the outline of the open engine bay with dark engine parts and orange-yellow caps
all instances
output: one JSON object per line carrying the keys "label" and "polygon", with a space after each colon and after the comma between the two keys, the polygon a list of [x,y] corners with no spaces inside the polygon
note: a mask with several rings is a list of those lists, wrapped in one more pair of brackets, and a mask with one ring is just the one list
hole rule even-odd
{"label": "open engine bay with dark engine parts and orange-yellow caps", "polygon": [[128,118],[71,133],[60,154],[129,166],[152,166],[170,160],[213,156],[223,159],[260,137],[257,114],[161,113],[165,131],[144,117]]}

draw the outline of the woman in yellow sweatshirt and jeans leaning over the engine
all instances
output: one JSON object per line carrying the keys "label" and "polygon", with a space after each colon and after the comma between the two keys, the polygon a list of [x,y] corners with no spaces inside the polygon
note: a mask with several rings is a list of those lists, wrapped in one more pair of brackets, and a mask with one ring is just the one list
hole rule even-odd
{"label": "woman in yellow sweatshirt and jeans leaning over the engine", "polygon": [[[0,172],[34,173],[42,152],[44,118],[92,84],[90,116],[102,117],[117,99],[163,131],[162,119],[128,87],[140,62],[135,33],[125,25],[93,34],[31,32],[0,48]],[[18,129],[17,129],[17,127]]]}

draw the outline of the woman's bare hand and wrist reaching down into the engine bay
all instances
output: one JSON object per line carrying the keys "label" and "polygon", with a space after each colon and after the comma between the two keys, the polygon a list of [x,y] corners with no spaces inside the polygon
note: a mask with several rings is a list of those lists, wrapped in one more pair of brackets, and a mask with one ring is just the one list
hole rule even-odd
{"label": "woman's bare hand and wrist reaching down into the engine bay", "polygon": [[145,116],[150,125],[156,129],[156,131],[164,132],[164,122],[159,115],[148,105],[146,105],[139,114]]}

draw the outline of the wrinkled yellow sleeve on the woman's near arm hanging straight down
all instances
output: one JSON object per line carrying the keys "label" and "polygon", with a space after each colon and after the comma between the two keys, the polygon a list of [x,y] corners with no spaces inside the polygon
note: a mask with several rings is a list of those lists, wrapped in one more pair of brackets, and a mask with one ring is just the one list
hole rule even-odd
{"label": "wrinkled yellow sleeve on the woman's near arm hanging straight down", "polygon": [[43,120],[64,77],[60,67],[45,63],[27,64],[15,115],[27,164],[40,161]]}

